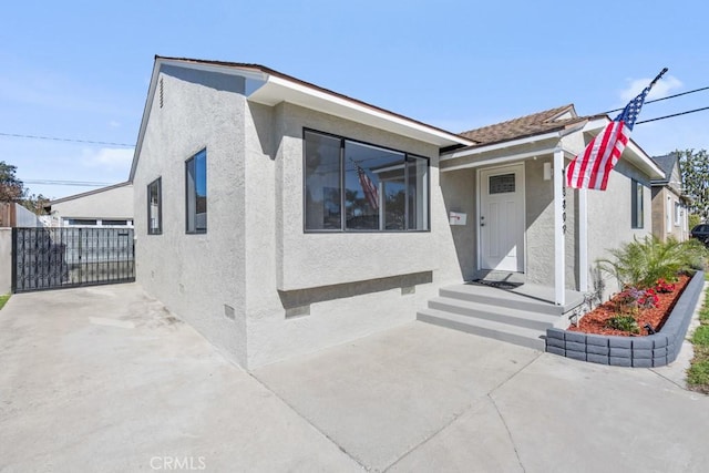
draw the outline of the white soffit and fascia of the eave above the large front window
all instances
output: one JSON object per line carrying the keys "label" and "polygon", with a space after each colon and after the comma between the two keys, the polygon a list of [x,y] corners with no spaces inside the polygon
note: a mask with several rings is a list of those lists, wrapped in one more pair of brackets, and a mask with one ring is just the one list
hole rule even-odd
{"label": "white soffit and fascia of the eave above the large front window", "polygon": [[413,140],[434,144],[439,147],[451,145],[472,145],[473,142],[453,133],[427,126],[423,123],[407,120],[387,113],[363,103],[329,94],[305,84],[269,75],[268,80],[248,96],[249,101],[274,106],[288,102],[306,109],[351,120],[358,123],[384,130]]}

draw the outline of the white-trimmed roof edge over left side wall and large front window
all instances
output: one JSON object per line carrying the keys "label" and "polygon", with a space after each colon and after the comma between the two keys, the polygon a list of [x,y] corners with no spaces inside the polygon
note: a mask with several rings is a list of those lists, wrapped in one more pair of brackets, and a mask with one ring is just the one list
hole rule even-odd
{"label": "white-trimmed roof edge over left side wall and large front window", "polygon": [[474,141],[465,136],[371,105],[260,64],[156,55],[133,155],[130,181],[133,181],[135,175],[137,158],[150,119],[151,105],[155,95],[157,78],[163,65],[242,76],[247,81],[245,95],[250,102],[269,106],[280,102],[294,103],[306,109],[423,141],[438,147],[474,144]]}

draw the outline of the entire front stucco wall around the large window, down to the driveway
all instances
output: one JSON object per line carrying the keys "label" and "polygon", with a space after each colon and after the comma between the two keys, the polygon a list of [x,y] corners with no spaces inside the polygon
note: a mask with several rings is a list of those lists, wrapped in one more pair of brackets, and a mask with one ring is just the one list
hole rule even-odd
{"label": "entire front stucco wall around the large window, down to the driveway", "polygon": [[[461,281],[438,148],[292,104],[249,107],[248,368],[412,321],[440,285]],[[431,232],[305,233],[304,127],[431,158]]]}

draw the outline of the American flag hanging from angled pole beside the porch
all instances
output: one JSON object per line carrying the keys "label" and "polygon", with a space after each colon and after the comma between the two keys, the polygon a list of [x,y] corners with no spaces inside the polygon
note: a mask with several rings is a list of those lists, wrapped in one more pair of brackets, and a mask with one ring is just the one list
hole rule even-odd
{"label": "American flag hanging from angled pole beside the porch", "polygon": [[623,109],[623,112],[604,131],[593,138],[586,150],[576,156],[566,168],[566,185],[574,188],[605,191],[608,176],[630,138],[630,132],[638,119],[645,97],[667,68],[657,74],[650,84]]}

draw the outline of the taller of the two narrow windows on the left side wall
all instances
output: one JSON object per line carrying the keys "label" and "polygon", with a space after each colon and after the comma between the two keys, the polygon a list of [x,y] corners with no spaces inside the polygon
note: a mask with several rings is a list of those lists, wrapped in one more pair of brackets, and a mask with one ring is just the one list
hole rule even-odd
{"label": "taller of the two narrow windows on the left side wall", "polygon": [[185,162],[186,232],[207,233],[207,150]]}

